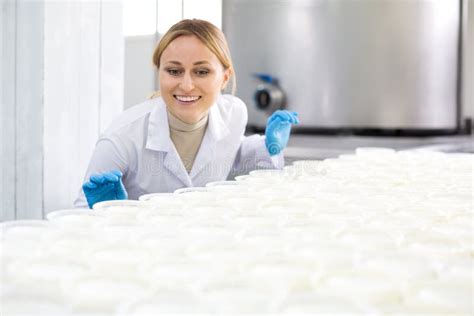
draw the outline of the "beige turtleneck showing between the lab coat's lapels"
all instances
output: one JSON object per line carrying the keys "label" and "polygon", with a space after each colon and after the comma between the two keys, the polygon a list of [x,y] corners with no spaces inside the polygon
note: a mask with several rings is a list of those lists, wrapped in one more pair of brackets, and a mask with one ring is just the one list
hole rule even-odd
{"label": "beige turtleneck showing between the lab coat's lapels", "polygon": [[197,123],[188,124],[181,121],[168,110],[171,141],[188,173],[191,172],[194,159],[204,138],[208,117],[209,115],[206,115]]}

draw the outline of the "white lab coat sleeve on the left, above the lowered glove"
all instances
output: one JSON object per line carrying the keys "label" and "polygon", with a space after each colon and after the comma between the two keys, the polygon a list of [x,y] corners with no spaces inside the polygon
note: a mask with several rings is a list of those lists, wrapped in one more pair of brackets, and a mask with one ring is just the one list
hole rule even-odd
{"label": "white lab coat sleeve on the left, above the lowered glove", "polygon": [[[83,183],[89,181],[90,176],[93,174],[110,172],[112,170],[120,170],[124,178],[126,177],[128,169],[126,153],[120,150],[123,147],[118,145],[116,141],[109,138],[99,139],[87,167]],[[82,185],[78,197],[74,201],[74,207],[88,208]]]}

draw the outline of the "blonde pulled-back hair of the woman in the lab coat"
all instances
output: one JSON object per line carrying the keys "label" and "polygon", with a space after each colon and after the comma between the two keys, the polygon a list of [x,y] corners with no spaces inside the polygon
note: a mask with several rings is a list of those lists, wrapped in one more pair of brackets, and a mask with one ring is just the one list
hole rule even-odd
{"label": "blonde pulled-back hair of the woman in the lab coat", "polygon": [[[199,19],[186,19],[173,25],[168,32],[163,35],[158,46],[155,48],[153,53],[153,64],[157,69],[160,69],[160,59],[164,50],[168,45],[180,36],[196,36],[201,42],[206,45],[209,50],[217,56],[217,59],[221,62],[224,70],[231,70],[231,81],[232,90],[231,93],[235,94],[236,89],[236,78],[234,73],[234,66],[232,64],[232,58],[230,56],[229,45],[225,39],[224,33],[219,30],[214,24]],[[155,92],[151,98],[159,96],[160,92]]]}

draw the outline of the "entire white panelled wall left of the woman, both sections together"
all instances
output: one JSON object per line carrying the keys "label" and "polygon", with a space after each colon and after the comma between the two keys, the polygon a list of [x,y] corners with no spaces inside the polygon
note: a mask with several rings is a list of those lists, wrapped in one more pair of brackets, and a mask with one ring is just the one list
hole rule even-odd
{"label": "entire white panelled wall left of the woman, both sections together", "polygon": [[1,217],[72,206],[94,144],[123,109],[120,0],[1,5]]}

